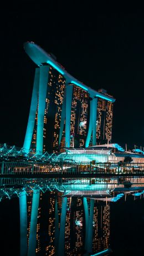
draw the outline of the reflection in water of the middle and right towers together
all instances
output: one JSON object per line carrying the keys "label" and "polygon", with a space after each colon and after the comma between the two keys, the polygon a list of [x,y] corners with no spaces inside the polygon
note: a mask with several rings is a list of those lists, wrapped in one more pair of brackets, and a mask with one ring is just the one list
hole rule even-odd
{"label": "reflection in water of the middle and right towers together", "polygon": [[[109,203],[90,198],[68,197],[65,216],[64,255],[82,256],[109,248]],[[62,248],[62,244],[60,245]]]}

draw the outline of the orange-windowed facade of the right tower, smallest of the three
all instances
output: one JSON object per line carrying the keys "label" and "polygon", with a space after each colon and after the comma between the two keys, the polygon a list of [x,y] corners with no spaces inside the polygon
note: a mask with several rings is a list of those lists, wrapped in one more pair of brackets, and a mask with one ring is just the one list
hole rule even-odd
{"label": "orange-windowed facade of the right tower, smallest of the three", "polygon": [[[98,90],[104,95],[108,95],[104,89]],[[109,95],[109,97],[111,97]],[[113,103],[105,99],[97,99],[97,121],[96,121],[96,142],[97,144],[111,142],[112,138],[112,117]]]}

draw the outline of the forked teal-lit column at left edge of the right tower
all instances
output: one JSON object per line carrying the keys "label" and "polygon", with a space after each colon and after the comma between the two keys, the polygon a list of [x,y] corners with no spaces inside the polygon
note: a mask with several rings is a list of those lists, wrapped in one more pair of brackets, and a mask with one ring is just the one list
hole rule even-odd
{"label": "forked teal-lit column at left edge of the right tower", "polygon": [[89,130],[88,136],[86,138],[85,147],[89,147],[90,138],[92,134],[92,145],[96,145],[96,114],[97,114],[97,98],[94,97],[90,101],[90,121],[89,121]]}

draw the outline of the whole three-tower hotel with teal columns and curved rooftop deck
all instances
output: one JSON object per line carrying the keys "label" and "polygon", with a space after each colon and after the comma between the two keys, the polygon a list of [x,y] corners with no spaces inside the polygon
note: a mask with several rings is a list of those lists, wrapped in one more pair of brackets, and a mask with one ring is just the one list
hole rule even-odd
{"label": "whole three-tower hotel with teal columns and curved rooftop deck", "polygon": [[24,148],[62,152],[111,142],[115,99],[75,79],[37,44],[26,42],[24,49],[38,66]]}

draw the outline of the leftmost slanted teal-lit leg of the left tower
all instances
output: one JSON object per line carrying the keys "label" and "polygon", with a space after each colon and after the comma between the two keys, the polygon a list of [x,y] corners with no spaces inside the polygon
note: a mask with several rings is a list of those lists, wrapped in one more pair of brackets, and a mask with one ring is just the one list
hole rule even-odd
{"label": "leftmost slanted teal-lit leg of the left tower", "polygon": [[24,145],[23,145],[23,147],[27,150],[29,150],[30,144],[32,142],[34,122],[35,122],[35,113],[37,111],[37,106],[38,106],[38,89],[39,89],[39,68],[36,68],[27,132],[25,134]]}

